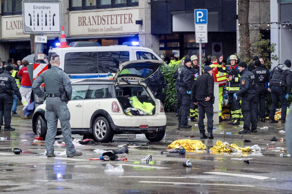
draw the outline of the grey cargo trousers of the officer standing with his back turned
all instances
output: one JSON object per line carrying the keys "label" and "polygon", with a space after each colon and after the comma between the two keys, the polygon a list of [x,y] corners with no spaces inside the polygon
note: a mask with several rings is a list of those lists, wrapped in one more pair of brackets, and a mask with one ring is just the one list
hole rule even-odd
{"label": "grey cargo trousers of the officer standing with his back turned", "polygon": [[54,153],[54,142],[57,133],[58,118],[61,123],[62,135],[66,144],[67,154],[75,152],[75,147],[72,143],[71,126],[70,126],[70,112],[65,102],[58,97],[46,98],[46,113],[47,120],[47,134],[46,134],[46,150],[47,154]]}

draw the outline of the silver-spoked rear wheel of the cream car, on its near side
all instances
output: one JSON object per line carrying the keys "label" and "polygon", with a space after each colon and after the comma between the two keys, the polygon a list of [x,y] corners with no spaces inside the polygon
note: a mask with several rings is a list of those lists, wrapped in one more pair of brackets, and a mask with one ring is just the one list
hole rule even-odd
{"label": "silver-spoked rear wheel of the cream car, on its near side", "polygon": [[95,119],[92,131],[97,142],[108,143],[114,137],[114,132],[105,117]]}

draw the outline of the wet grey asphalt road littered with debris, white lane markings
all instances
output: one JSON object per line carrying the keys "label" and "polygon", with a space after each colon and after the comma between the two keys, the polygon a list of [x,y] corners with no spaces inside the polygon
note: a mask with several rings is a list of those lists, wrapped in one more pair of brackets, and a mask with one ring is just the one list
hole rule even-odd
{"label": "wet grey asphalt road littered with debris, white lane markings", "polygon": [[[45,147],[32,145],[35,135],[30,127],[16,127],[13,132],[1,130],[0,137],[17,139],[0,141],[0,192],[5,193],[292,193],[291,158],[280,157],[282,152],[276,149],[266,149],[269,144],[286,150],[284,142],[202,140],[206,150],[179,155],[161,154],[178,136],[166,136],[161,142],[151,143],[147,139],[136,139],[135,135],[115,135],[111,143],[76,147],[83,155],[68,160],[66,156],[35,156],[44,152]],[[264,148],[263,156],[256,155],[258,153],[243,153],[244,156],[210,153],[209,148],[217,140],[240,147],[259,144]],[[94,149],[119,149],[118,145],[128,142],[152,147],[130,148],[129,154],[119,155],[126,156],[128,161],[89,160],[100,156],[93,152]],[[23,153],[13,154],[10,149],[15,147]],[[64,150],[55,147],[55,151]],[[140,158],[148,154],[152,155],[151,164],[141,166]],[[249,159],[250,164],[244,164],[244,160],[232,158],[252,159]],[[187,159],[192,167],[182,166]],[[123,166],[123,173],[106,173],[106,164],[130,166]]]}

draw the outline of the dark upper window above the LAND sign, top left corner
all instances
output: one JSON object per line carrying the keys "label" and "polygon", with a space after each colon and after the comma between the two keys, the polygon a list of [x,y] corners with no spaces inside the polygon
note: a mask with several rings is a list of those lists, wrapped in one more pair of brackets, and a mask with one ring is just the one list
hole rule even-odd
{"label": "dark upper window above the LAND sign, top left corner", "polygon": [[2,15],[22,13],[22,0],[1,0]]}

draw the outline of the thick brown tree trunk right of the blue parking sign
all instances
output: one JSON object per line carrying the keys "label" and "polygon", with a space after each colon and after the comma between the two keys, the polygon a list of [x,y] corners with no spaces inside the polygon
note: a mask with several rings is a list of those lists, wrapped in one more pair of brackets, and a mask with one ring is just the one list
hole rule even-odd
{"label": "thick brown tree trunk right of the blue parking sign", "polygon": [[249,58],[249,45],[246,45],[246,41],[249,41],[249,25],[248,25],[248,14],[249,14],[249,0],[238,0],[238,23],[239,25],[239,38],[240,45],[244,46],[246,52],[243,52],[244,58]]}

